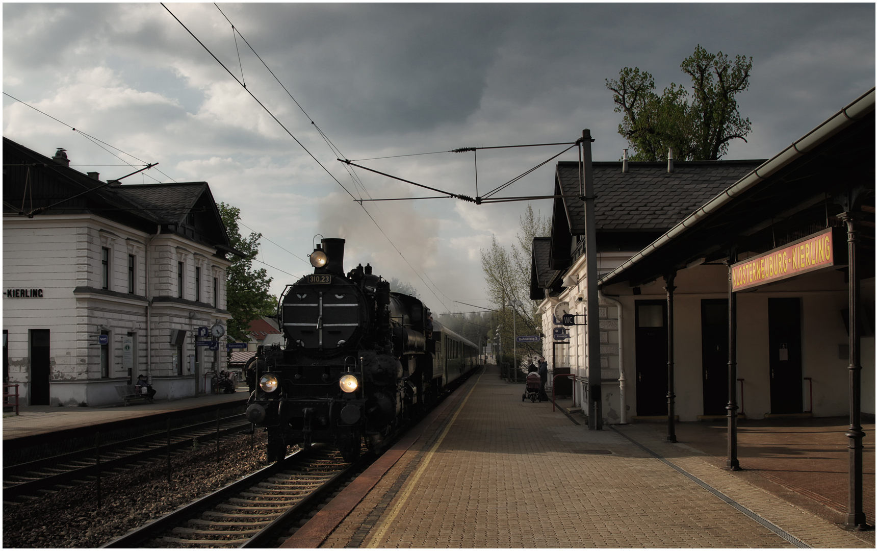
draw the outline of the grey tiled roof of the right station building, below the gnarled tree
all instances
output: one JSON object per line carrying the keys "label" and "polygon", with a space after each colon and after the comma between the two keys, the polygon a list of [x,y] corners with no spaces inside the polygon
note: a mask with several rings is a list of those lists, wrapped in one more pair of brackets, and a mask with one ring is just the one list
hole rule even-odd
{"label": "grey tiled roof of the right station building, below the gnarled tree", "polygon": [[[744,178],[764,160],[676,161],[667,163],[592,163],[595,228],[600,230],[666,230],[696,208]],[[579,163],[560,162],[556,178],[564,199],[573,235],[585,233],[585,207],[579,199]]]}

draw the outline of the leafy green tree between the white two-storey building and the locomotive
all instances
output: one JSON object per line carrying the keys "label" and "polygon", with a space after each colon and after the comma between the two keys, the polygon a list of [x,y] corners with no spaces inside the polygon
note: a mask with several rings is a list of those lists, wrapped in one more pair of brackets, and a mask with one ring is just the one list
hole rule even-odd
{"label": "leafy green tree between the white two-storey building and the locomotive", "polygon": [[254,270],[252,266],[263,235],[251,232],[247,238],[242,237],[238,228],[241,209],[226,203],[219,203],[218,208],[232,247],[247,254],[244,258],[235,256],[226,270],[226,302],[232,315],[227,324],[228,335],[246,341],[250,322],[263,315],[275,315],[277,298],[269,291],[271,278],[265,268]]}

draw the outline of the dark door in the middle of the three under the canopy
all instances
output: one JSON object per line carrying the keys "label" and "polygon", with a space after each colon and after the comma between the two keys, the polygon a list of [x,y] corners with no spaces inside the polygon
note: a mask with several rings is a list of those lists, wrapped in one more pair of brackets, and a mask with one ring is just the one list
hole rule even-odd
{"label": "dark door in the middle of the three under the canopy", "polygon": [[729,300],[702,299],[704,415],[725,415],[729,402]]}

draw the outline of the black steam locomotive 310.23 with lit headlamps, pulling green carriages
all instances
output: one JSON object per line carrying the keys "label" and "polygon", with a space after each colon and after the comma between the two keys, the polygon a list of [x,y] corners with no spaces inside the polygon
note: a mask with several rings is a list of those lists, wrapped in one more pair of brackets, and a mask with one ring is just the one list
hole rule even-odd
{"label": "black steam locomotive 310.23 with lit headlamps, pulling green carriages", "polygon": [[344,239],[322,239],[314,272],[278,302],[284,343],[252,365],[247,417],[268,431],[268,459],[287,446],[328,442],[345,460],[375,448],[428,410],[479,364],[476,344],[432,319],[429,308],[357,265],[344,273]]}

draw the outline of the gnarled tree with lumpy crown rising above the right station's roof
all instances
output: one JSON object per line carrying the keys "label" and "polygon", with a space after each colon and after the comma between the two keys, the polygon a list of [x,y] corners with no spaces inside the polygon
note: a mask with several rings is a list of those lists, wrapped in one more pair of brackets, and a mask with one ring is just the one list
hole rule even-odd
{"label": "gnarled tree with lumpy crown rising above the right station's roof", "polygon": [[674,158],[716,161],[725,155],[729,142],[746,141],[749,119],[738,113],[735,97],[750,85],[752,57],[731,62],[719,52],[709,54],[701,45],[680,64],[692,79],[692,101],[682,86],[671,83],[659,96],[655,79],[637,67],[619,71],[618,80],[607,80],[613,91],[615,112],[623,112],[619,134],[628,140],[633,161],[660,161],[668,148]]}

